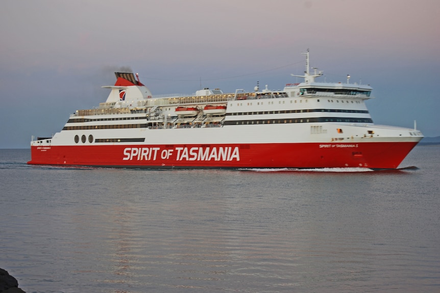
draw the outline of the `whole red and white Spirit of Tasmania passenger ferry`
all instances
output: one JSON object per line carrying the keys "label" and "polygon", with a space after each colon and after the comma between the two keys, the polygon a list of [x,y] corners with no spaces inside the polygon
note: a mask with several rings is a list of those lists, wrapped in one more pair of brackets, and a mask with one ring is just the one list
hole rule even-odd
{"label": "whole red and white Spirit of Tasmania passenger ferry", "polygon": [[[61,131],[31,140],[32,165],[111,168],[396,169],[420,130],[373,123],[372,87],[317,82],[310,68],[283,90],[205,88],[153,96],[139,75],[115,72],[109,96],[71,114]],[[414,123],[415,124],[415,123]]]}

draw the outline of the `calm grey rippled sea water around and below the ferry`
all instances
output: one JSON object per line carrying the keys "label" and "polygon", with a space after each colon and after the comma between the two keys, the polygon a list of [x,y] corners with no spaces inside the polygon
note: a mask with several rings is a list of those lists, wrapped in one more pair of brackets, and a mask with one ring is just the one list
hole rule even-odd
{"label": "calm grey rippled sea water around and below the ferry", "polygon": [[380,172],[28,159],[0,150],[0,267],[28,293],[440,291],[440,146]]}

